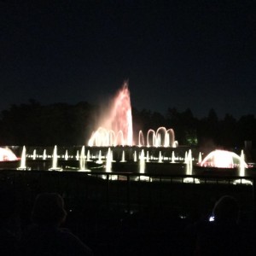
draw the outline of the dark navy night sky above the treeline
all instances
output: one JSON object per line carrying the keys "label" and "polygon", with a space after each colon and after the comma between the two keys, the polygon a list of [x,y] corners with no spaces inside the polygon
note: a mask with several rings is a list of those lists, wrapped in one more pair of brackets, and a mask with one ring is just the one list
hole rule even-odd
{"label": "dark navy night sky above the treeline", "polygon": [[0,0],[0,110],[98,103],[255,114],[256,1]]}

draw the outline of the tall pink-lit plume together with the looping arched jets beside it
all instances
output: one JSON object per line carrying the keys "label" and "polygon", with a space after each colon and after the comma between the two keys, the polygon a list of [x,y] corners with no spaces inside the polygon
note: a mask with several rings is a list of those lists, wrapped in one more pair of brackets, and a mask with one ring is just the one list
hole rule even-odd
{"label": "tall pink-lit plume together with the looping arched jets beside it", "polygon": [[[134,145],[131,99],[127,82],[125,82],[121,90],[113,98],[109,110],[100,118],[98,128],[96,131],[93,131],[88,145],[90,147]],[[138,146],[177,148],[177,141],[175,141],[172,129],[166,129],[166,127],[161,126],[156,131],[149,129],[146,140],[144,139],[143,131],[139,131]]]}

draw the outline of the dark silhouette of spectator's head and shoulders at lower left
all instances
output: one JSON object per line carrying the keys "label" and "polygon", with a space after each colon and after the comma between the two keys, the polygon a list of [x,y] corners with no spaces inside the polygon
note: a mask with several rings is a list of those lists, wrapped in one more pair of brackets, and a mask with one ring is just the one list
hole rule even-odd
{"label": "dark silhouette of spectator's head and shoulders at lower left", "polygon": [[67,216],[63,205],[61,195],[38,195],[32,209],[34,225],[20,241],[21,255],[92,255],[90,248],[77,236],[60,228]]}

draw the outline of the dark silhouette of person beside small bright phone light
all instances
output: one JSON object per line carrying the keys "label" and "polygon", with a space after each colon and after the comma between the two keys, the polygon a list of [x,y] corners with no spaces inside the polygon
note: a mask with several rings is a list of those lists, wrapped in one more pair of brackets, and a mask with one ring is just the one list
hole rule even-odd
{"label": "dark silhouette of person beside small bright phone light", "polygon": [[214,220],[196,224],[195,255],[247,255],[239,214],[234,197],[221,197],[213,207]]}

